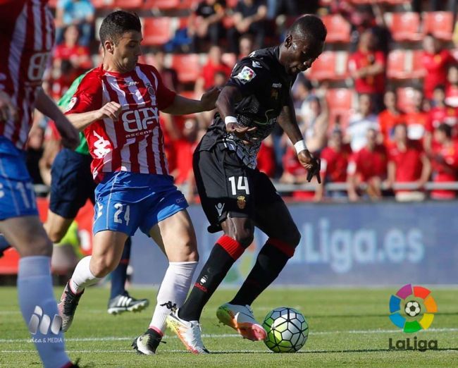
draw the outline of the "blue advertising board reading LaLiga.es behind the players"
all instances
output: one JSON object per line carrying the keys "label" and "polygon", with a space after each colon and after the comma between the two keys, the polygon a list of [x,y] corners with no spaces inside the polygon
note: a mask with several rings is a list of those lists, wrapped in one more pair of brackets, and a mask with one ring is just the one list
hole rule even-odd
{"label": "blue advertising board reading LaLiga.es behind the players", "polygon": [[[403,285],[458,283],[458,202],[400,204],[290,204],[302,239],[277,284]],[[201,263],[221,236],[209,234],[202,209],[190,207]],[[225,278],[239,285],[267,237],[256,230],[252,247]],[[137,232],[133,282],[160,283],[166,258]]]}

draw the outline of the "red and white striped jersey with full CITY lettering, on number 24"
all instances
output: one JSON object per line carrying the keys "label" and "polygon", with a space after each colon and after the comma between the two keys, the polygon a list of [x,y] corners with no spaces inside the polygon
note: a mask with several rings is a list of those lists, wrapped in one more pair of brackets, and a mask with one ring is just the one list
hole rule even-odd
{"label": "red and white striped jersey with full CITY lettering, on number 24", "polygon": [[94,179],[113,171],[168,174],[159,110],[173,99],[175,92],[149,65],[137,63],[129,73],[107,72],[99,66],[85,75],[66,114],[94,111],[107,102],[122,106],[117,121],[105,118],[85,129]]}

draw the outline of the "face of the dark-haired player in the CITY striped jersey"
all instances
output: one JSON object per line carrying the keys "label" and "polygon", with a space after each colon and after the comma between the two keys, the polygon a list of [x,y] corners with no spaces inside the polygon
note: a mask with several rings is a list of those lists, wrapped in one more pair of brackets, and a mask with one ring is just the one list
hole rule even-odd
{"label": "face of the dark-haired player in the CITY striped jersey", "polygon": [[142,54],[140,43],[142,33],[135,30],[123,33],[117,45],[113,45],[113,62],[121,73],[134,70],[138,57]]}

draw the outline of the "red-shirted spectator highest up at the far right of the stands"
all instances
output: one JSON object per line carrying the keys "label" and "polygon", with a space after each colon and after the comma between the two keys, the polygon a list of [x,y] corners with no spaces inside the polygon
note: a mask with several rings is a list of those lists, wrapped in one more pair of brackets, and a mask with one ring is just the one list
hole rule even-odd
{"label": "red-shirted spectator highest up at the far right of the stands", "polygon": [[447,66],[455,60],[450,51],[443,49],[439,40],[431,33],[428,33],[423,39],[423,49],[421,62],[426,69],[423,90],[425,97],[431,100],[434,87],[447,84]]}

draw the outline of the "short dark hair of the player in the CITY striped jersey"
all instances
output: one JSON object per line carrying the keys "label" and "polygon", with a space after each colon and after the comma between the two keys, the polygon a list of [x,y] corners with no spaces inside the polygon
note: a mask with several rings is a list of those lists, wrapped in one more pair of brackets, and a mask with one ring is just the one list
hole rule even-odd
{"label": "short dark hair of the player in the CITY striped jersey", "polygon": [[142,24],[137,14],[128,11],[113,11],[104,18],[99,30],[99,37],[102,47],[106,40],[118,44],[120,37],[125,33],[135,30],[142,32]]}

